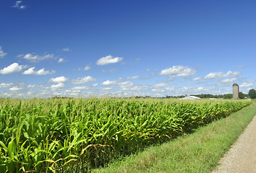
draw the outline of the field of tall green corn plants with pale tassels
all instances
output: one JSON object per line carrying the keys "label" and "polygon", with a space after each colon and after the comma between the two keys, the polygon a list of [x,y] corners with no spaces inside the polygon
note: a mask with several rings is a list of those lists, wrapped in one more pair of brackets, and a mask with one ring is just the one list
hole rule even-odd
{"label": "field of tall green corn plants with pale tassels", "polygon": [[226,117],[249,101],[0,99],[0,173],[90,172]]}

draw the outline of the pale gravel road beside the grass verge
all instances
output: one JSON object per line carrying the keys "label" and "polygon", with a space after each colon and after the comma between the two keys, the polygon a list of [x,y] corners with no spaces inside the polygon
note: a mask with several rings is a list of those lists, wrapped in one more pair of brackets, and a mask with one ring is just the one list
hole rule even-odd
{"label": "pale gravel road beside the grass verge", "polygon": [[256,173],[256,116],[212,173]]}

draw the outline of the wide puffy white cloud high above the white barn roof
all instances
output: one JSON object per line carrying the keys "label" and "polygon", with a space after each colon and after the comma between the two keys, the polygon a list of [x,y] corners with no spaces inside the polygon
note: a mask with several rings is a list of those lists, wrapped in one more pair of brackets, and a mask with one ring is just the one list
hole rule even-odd
{"label": "wide puffy white cloud high above the white barn roof", "polygon": [[172,77],[189,76],[195,74],[195,69],[188,68],[185,66],[172,66],[161,71],[160,75],[169,75]]}

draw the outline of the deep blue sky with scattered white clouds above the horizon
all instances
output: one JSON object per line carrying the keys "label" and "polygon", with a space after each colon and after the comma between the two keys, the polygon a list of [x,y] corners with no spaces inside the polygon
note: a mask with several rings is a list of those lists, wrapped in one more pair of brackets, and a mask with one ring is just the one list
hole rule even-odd
{"label": "deep blue sky with scattered white clouds above the horizon", "polygon": [[256,1],[2,0],[0,96],[256,88]]}

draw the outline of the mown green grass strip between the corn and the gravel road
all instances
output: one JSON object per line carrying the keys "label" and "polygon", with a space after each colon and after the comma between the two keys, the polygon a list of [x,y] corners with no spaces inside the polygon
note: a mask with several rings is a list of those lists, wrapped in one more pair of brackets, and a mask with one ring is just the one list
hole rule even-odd
{"label": "mown green grass strip between the corn and the gravel road", "polygon": [[256,103],[229,117],[93,172],[211,172],[256,114]]}

